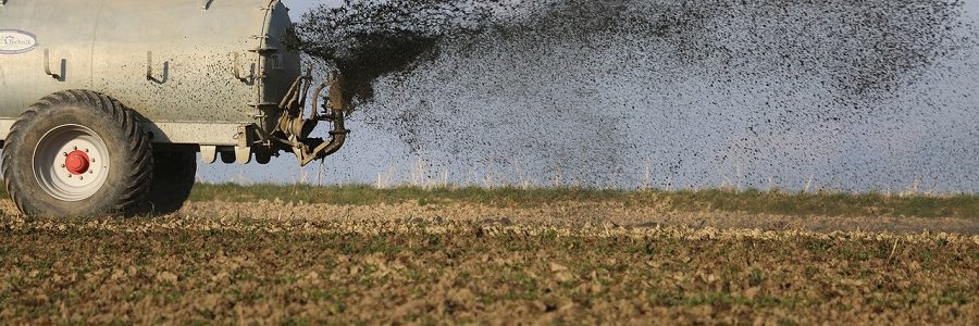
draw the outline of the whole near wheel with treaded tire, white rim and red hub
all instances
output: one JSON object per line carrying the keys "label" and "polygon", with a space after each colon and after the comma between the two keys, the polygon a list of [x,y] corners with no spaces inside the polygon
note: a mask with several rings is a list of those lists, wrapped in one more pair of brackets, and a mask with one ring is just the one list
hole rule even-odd
{"label": "whole near wheel with treaded tire, white rim and red hub", "polygon": [[102,93],[66,90],[21,114],[2,165],[25,215],[129,215],[152,181],[153,151],[137,113]]}

